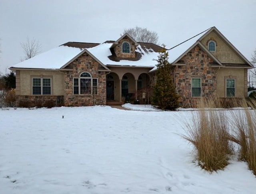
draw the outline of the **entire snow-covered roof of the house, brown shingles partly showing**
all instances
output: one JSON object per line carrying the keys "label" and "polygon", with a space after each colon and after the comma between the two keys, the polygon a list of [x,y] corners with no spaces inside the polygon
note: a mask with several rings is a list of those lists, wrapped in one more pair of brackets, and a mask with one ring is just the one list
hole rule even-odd
{"label": "entire snow-covered roof of the house, brown shingles partly showing", "polygon": [[[209,28],[208,30],[196,35],[195,37],[182,42],[178,46],[174,46],[169,53],[169,62],[171,64],[177,63],[181,57],[183,57],[190,49],[196,45],[200,45],[213,59],[216,64],[221,65],[220,61],[205,48],[200,40],[204,38],[208,33],[215,30],[221,37],[224,37],[215,27]],[[121,37],[122,38],[122,37]],[[119,39],[118,39],[119,40]],[[226,38],[224,37],[224,40]],[[251,63],[236,49],[228,40],[231,48],[234,49],[243,59],[248,63],[247,66],[251,67]],[[82,53],[87,52],[94,59],[96,59],[106,70],[109,70],[108,65],[120,65],[120,66],[132,66],[132,67],[152,67],[150,71],[157,69],[156,61],[154,59],[158,58],[159,51],[163,49],[162,47],[152,44],[152,43],[141,43],[138,42],[136,46],[136,57],[134,58],[120,58],[113,53],[112,45],[115,41],[106,41],[103,44],[98,43],[81,43],[81,42],[68,42],[57,48],[51,49],[31,59],[22,61],[12,66],[12,68],[31,68],[31,69],[61,69],[65,65],[72,62],[72,60],[79,57]],[[238,64],[244,65],[244,64]],[[232,66],[232,64],[230,65]],[[234,65],[233,65],[234,66]]]}

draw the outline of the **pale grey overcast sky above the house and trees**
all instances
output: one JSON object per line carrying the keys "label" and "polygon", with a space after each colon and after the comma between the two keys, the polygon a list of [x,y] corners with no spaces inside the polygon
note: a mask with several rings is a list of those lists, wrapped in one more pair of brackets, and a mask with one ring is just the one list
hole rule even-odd
{"label": "pale grey overcast sky above the house and trees", "polygon": [[251,61],[256,0],[0,0],[0,72],[24,57],[27,36],[44,52],[70,41],[117,40],[135,26],[157,32],[167,48],[216,26]]}

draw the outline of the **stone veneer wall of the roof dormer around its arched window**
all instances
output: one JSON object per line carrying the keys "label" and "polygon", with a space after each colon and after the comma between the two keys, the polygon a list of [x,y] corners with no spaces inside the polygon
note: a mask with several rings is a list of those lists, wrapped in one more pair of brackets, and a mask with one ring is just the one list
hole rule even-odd
{"label": "stone veneer wall of the roof dormer around its arched window", "polygon": [[[122,53],[122,43],[128,42],[130,44],[130,53]],[[125,36],[118,42],[118,45],[115,47],[115,53],[117,57],[121,58],[129,58],[134,57],[135,58],[135,43],[128,38],[128,36]]]}

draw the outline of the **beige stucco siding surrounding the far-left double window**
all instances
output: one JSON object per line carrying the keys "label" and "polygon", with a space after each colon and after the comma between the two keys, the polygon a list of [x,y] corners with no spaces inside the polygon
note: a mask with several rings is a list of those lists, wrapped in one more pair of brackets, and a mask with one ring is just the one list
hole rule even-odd
{"label": "beige stucco siding surrounding the far-left double window", "polygon": [[20,95],[32,95],[32,77],[51,78],[52,95],[64,95],[64,74],[59,71],[20,70]]}

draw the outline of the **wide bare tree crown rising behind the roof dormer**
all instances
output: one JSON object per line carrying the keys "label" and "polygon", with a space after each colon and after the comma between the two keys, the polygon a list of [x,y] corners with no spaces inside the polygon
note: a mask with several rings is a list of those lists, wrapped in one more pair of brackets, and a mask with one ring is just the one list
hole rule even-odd
{"label": "wide bare tree crown rising behind the roof dormer", "polygon": [[[125,29],[123,34],[128,33],[137,42],[150,42],[158,44],[158,34],[147,28],[136,26],[135,28]],[[123,35],[121,34],[121,36]]]}

